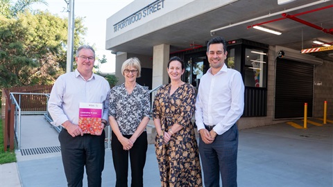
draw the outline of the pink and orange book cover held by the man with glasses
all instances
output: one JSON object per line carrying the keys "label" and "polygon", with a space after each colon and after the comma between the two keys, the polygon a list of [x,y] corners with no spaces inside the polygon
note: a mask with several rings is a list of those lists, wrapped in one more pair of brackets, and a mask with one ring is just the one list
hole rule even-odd
{"label": "pink and orange book cover held by the man with glasses", "polygon": [[80,103],[78,125],[85,134],[101,134],[102,103]]}

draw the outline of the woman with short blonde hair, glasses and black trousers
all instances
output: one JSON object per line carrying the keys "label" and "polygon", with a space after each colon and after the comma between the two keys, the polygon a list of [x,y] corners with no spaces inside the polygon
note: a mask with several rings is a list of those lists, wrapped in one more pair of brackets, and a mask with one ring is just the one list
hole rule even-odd
{"label": "woman with short blonde hair, glasses and black trousers", "polygon": [[110,91],[109,121],[112,127],[112,158],[116,171],[116,186],[127,186],[128,154],[132,186],[144,186],[144,165],[148,148],[146,126],[149,121],[151,99],[148,87],[136,80],[141,74],[137,57],[121,66],[125,82]]}

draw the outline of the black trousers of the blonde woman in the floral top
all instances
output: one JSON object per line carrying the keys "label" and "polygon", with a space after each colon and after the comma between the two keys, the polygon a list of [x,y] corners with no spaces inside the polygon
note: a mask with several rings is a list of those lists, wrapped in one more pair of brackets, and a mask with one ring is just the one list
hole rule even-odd
{"label": "black trousers of the blonde woman in the floral top", "polygon": [[[123,135],[130,139],[132,135]],[[112,159],[116,171],[116,187],[127,187],[128,178],[128,153],[130,154],[130,170],[132,173],[131,186],[144,186],[144,165],[148,148],[147,132],[137,138],[130,150],[123,150],[123,145],[112,132]]]}

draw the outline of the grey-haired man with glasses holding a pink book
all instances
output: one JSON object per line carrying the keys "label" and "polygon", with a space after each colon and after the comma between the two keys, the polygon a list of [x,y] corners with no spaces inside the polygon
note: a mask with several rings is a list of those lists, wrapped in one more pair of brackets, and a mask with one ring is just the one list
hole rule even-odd
{"label": "grey-haired man with glasses holding a pink book", "polygon": [[[80,46],[75,60],[76,71],[60,75],[54,83],[48,109],[53,125],[63,127],[59,141],[67,186],[83,186],[84,167],[88,186],[101,186],[105,156],[103,129],[108,125],[110,85],[92,72],[95,51],[91,46]],[[100,134],[83,134],[78,126],[80,103],[103,104]]]}

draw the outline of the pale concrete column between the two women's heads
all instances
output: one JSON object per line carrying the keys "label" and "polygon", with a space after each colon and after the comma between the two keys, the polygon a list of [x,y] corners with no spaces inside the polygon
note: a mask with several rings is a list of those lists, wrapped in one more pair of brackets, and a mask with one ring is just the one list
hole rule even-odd
{"label": "pale concrete column between the two women's heads", "polygon": [[169,62],[170,45],[160,44],[153,48],[153,89],[169,82],[167,64]]}

